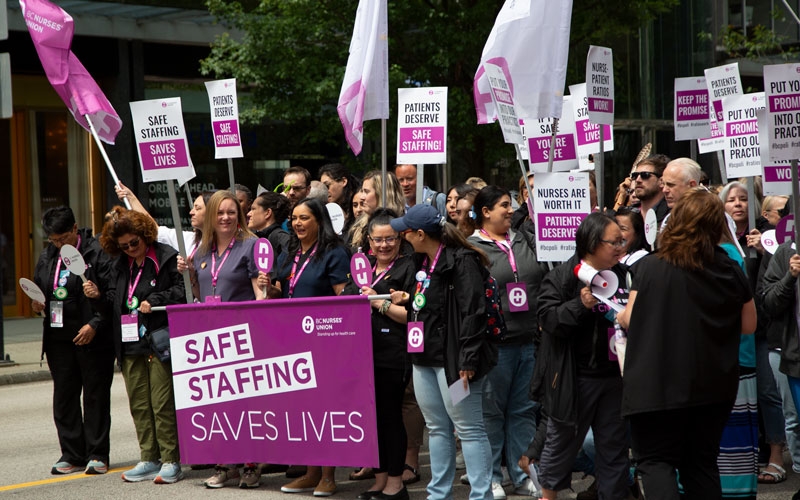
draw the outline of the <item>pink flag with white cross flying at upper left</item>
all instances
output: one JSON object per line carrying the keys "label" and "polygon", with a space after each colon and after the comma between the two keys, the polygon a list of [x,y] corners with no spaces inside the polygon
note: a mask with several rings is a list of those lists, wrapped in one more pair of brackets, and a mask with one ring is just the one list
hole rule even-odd
{"label": "pink flag with white cross flying at upper left", "polygon": [[83,128],[91,131],[86,121],[89,115],[100,139],[114,144],[122,120],[70,49],[74,31],[72,17],[47,0],[19,0],[19,3],[53,90]]}

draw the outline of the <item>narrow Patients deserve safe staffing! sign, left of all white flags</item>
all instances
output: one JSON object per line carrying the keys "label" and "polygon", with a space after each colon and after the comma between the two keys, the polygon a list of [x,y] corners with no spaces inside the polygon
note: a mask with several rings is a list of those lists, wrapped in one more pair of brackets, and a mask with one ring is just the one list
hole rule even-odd
{"label": "narrow Patients deserve safe staffing! sign, left of all white flags", "polygon": [[242,137],[239,134],[236,79],[206,82],[206,90],[211,105],[214,158],[241,158],[244,153],[242,153]]}

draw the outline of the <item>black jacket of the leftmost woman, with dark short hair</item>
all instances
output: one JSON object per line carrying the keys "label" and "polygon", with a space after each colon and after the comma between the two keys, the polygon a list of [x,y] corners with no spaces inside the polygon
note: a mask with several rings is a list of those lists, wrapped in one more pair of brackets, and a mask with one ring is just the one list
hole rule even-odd
{"label": "black jacket of the leftmost woman, with dark short hair", "polygon": [[[80,235],[80,248],[78,251],[86,261],[87,280],[97,283],[99,287],[108,286],[112,280],[111,259],[103,252],[100,243],[92,237],[92,230],[82,228]],[[59,339],[72,341],[84,325],[95,329],[95,337],[87,346],[111,346],[111,321],[102,310],[95,310],[92,301],[83,294],[83,282],[79,276],[72,273],[67,277],[64,287],[67,289],[67,298],[64,300],[64,327],[50,327],[50,302],[53,296],[53,279],[56,264],[61,259],[60,250],[53,245],[47,245],[39,256],[36,268],[33,271],[33,281],[42,289],[45,296],[45,317],[42,335],[42,352],[46,349],[48,341]],[[61,264],[61,271],[66,271],[66,266]],[[104,285],[105,284],[105,285]]]}

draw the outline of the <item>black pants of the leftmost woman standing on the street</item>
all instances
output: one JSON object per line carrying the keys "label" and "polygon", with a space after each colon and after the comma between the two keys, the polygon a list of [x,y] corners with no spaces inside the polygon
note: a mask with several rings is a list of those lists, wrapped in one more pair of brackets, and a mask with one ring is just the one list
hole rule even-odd
{"label": "black pants of the leftmost woman standing on the street", "polygon": [[53,377],[53,420],[61,445],[59,461],[81,466],[89,460],[108,464],[113,348],[50,340],[45,354]]}

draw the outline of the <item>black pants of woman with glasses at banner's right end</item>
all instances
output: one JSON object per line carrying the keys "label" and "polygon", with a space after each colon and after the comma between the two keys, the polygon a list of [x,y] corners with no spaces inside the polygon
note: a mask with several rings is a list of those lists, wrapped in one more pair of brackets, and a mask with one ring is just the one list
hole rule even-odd
{"label": "black pants of woman with glasses at banner's right end", "polygon": [[406,370],[375,367],[375,414],[380,459],[380,468],[375,472],[403,475],[408,444],[403,425],[403,395],[409,378]]}

